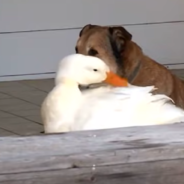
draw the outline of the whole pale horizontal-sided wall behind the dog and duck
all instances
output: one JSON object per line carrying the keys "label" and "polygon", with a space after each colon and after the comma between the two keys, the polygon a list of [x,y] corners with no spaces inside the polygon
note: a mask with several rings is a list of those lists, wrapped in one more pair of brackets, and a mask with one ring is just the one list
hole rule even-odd
{"label": "whole pale horizontal-sided wall behind the dog and duck", "polygon": [[126,25],[147,55],[184,68],[182,0],[0,0],[0,80],[53,76],[88,23]]}

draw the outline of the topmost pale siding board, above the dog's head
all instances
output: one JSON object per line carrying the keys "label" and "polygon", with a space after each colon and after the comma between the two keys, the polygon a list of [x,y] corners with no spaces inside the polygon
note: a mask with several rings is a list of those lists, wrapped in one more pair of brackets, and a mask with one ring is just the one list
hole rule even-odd
{"label": "topmost pale siding board, above the dog's head", "polygon": [[178,20],[183,0],[0,0],[0,32]]}

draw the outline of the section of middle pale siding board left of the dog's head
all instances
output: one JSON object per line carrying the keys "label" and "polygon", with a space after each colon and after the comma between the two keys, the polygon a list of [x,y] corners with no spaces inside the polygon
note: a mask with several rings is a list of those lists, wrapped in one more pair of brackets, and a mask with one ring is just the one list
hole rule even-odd
{"label": "section of middle pale siding board left of the dog's head", "polygon": [[63,56],[75,51],[79,30],[0,35],[0,77],[55,72]]}

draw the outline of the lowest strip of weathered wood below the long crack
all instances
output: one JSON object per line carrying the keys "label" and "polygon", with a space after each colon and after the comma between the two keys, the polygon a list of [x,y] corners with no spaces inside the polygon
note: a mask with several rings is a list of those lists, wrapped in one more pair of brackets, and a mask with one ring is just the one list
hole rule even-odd
{"label": "lowest strip of weathered wood below the long crack", "polygon": [[[67,170],[18,173],[0,176],[1,183],[7,184],[183,184],[184,161],[160,161],[134,163]],[[7,180],[8,178],[8,180]]]}

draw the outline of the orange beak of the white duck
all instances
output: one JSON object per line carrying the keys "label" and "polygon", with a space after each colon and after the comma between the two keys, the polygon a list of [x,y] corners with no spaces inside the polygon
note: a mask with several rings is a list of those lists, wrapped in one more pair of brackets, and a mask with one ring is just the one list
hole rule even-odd
{"label": "orange beak of the white duck", "polygon": [[128,81],[125,78],[121,78],[113,72],[107,72],[107,78],[104,81],[114,87],[128,86]]}

